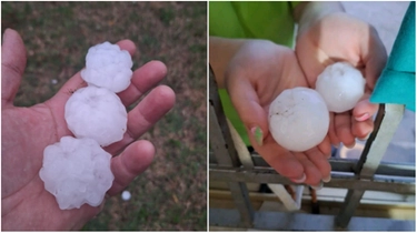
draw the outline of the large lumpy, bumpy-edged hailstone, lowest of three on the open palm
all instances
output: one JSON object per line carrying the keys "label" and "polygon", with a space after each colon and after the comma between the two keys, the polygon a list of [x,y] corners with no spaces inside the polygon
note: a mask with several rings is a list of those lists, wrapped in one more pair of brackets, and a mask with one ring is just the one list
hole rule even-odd
{"label": "large lumpy, bumpy-edged hailstone, lowest of three on the open palm", "polygon": [[44,149],[39,176],[61,210],[98,206],[115,179],[110,159],[92,139],[63,136]]}

